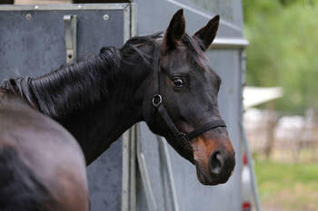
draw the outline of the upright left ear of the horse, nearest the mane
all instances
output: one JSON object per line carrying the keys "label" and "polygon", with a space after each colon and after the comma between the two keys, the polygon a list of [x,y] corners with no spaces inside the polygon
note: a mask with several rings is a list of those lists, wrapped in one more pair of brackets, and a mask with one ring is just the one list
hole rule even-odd
{"label": "upright left ear of the horse, nearest the mane", "polygon": [[165,31],[164,40],[162,43],[162,50],[168,52],[173,50],[177,43],[179,43],[184,35],[185,31],[185,21],[184,21],[184,10],[178,10],[173,19],[170,21],[170,24]]}

